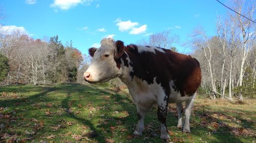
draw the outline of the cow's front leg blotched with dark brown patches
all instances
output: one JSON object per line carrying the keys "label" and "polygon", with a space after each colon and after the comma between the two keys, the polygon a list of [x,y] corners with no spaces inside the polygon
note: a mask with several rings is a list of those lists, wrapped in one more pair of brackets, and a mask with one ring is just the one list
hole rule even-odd
{"label": "cow's front leg blotched with dark brown patches", "polygon": [[165,96],[163,99],[158,100],[158,110],[157,110],[157,118],[161,124],[161,138],[169,139],[169,134],[166,125],[166,116],[167,116],[167,108],[168,108],[168,99]]}

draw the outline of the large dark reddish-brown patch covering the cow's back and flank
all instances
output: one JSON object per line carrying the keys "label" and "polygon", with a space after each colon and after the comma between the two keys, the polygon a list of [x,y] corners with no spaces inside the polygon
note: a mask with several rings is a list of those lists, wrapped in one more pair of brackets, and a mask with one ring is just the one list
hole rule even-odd
{"label": "large dark reddish-brown patch covering the cow's back and flank", "polygon": [[201,82],[201,70],[196,59],[162,48],[154,47],[144,51],[140,48],[152,47],[129,45],[125,48],[133,67],[130,73],[132,78],[137,76],[148,84],[152,84],[155,78],[166,89],[166,94],[170,94],[171,82],[174,83],[172,88],[178,90],[181,96],[191,96],[197,91]]}

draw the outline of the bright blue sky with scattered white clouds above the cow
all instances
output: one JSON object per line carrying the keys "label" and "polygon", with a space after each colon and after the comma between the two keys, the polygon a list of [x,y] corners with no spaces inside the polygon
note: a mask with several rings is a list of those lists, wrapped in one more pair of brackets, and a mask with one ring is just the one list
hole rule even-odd
{"label": "bright blue sky with scattered white clouds above the cow", "polygon": [[215,0],[1,0],[0,6],[8,32],[18,28],[35,39],[58,35],[63,44],[72,40],[83,54],[104,37],[130,44],[166,30],[179,35],[175,46],[180,52],[193,52],[184,43],[194,29],[202,26],[215,35],[217,15],[227,12]]}

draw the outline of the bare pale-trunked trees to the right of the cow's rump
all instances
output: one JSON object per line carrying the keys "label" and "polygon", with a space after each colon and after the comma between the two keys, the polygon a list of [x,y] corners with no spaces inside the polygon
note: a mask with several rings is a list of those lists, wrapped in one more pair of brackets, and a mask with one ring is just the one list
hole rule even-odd
{"label": "bare pale-trunked trees to the right of the cow's rump", "polygon": [[[232,1],[235,11],[249,19],[255,18],[250,1]],[[254,14],[254,15],[253,15]],[[214,98],[232,100],[233,96],[256,97],[256,23],[237,13],[217,18],[216,36],[208,36],[203,28],[193,33],[194,57],[202,68],[202,92]]]}

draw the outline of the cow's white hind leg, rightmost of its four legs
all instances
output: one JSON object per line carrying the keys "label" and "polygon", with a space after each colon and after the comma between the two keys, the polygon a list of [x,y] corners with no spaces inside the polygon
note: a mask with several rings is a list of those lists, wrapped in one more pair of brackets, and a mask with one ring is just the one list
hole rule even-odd
{"label": "cow's white hind leg, rightmost of its four legs", "polygon": [[189,118],[190,118],[191,110],[193,108],[196,96],[197,96],[197,92],[194,93],[194,95],[189,100],[186,101],[185,124],[184,124],[184,128],[183,128],[183,132],[190,132]]}

